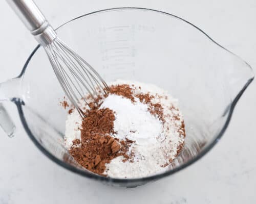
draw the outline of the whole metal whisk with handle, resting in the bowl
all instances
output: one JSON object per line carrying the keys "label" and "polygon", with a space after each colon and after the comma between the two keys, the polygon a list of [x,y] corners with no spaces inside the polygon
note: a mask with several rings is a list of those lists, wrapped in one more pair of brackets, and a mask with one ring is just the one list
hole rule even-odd
{"label": "whole metal whisk with handle, resting in the bowl", "polygon": [[[44,47],[56,77],[81,117],[86,117],[80,108],[80,101],[85,101],[86,94],[96,100],[99,92],[106,93],[108,85],[99,73],[69,46],[57,37],[45,16],[32,0],[7,0],[18,17]],[[89,105],[89,104],[88,104]]]}

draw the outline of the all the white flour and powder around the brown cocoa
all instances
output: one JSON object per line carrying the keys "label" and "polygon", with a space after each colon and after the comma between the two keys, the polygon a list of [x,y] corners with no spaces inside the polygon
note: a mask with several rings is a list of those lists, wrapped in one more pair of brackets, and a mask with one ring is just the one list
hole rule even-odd
{"label": "all the white flour and powder around the brown cocoa", "polygon": [[[122,162],[119,156],[105,164],[108,176],[118,178],[145,177],[164,171],[161,167],[176,157],[180,145],[184,143],[184,133],[181,131],[183,117],[178,111],[178,100],[166,91],[151,84],[118,80],[109,85],[128,84],[133,88],[133,94],[150,93],[154,98],[152,103],[159,103],[163,108],[163,123],[159,118],[147,111],[148,105],[138,98],[135,103],[130,99],[118,95],[106,97],[100,108],[110,108],[115,112],[114,137],[125,137],[136,141],[132,144],[128,154],[133,152],[134,162]],[[140,87],[140,88],[139,88]],[[174,117],[180,118],[177,120]],[[81,118],[77,111],[73,111],[66,121],[66,147],[72,146],[74,139],[80,139],[79,127]]]}

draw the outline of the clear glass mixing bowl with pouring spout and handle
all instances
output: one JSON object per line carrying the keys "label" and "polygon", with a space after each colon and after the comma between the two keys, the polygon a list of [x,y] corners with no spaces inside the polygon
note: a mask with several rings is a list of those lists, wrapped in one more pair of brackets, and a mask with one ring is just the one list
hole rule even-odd
{"label": "clear glass mixing bowl with pouring spout and handle", "polygon": [[[104,183],[134,187],[194,163],[223,135],[233,109],[253,80],[250,66],[203,31],[172,14],[143,8],[114,8],[77,17],[57,33],[107,82],[155,84],[179,99],[185,146],[169,170],[137,179],[102,177],[81,168],[63,146],[67,110],[63,91],[44,49],[37,46],[22,72],[0,85],[0,100],[13,101],[28,136],[51,160]],[[0,123],[14,125],[0,105]]]}

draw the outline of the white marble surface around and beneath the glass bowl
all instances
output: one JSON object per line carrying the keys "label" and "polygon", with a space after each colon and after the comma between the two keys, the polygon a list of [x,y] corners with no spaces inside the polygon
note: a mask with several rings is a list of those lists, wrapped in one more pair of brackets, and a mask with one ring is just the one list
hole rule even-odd
{"label": "white marble surface around and beneath the glass bowl", "polygon": [[[166,11],[195,23],[256,67],[254,0],[35,2],[55,27],[78,15],[103,8],[136,6]],[[36,42],[5,1],[0,1],[0,8],[0,81],[5,81],[16,77]],[[206,156],[166,179],[134,189],[104,186],[56,165],[27,137],[16,107],[10,103],[5,105],[14,118],[17,132],[14,138],[8,138],[0,130],[1,204],[256,202],[255,82],[239,101],[224,137]]]}

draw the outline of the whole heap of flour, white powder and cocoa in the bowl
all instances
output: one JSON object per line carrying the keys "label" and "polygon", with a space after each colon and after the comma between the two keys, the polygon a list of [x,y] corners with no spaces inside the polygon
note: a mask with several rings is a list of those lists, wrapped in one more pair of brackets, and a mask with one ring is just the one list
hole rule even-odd
{"label": "whole heap of flour, white powder and cocoa in the bowl", "polygon": [[86,99],[86,118],[69,110],[65,139],[70,154],[88,170],[145,177],[166,170],[181,151],[185,129],[178,100],[157,86],[118,80],[97,104]]}

